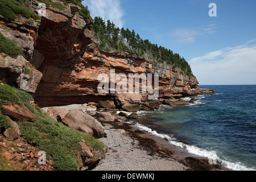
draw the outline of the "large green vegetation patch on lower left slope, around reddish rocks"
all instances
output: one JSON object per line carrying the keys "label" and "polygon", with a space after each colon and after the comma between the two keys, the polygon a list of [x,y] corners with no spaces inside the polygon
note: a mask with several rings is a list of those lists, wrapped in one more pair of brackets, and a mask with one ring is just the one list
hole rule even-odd
{"label": "large green vegetation patch on lower left slope, around reddish rocks", "polygon": [[[104,144],[92,136],[73,130],[63,123],[57,123],[39,107],[28,104],[33,100],[30,94],[13,88],[9,85],[0,85],[0,105],[10,101],[12,104],[27,106],[37,117],[35,122],[19,122],[22,135],[27,142],[39,146],[45,151],[48,159],[53,159],[53,166],[61,171],[77,170],[79,167],[76,156],[79,155],[82,139],[88,147],[94,150],[102,150]],[[5,123],[5,117],[0,115],[1,123]]]}

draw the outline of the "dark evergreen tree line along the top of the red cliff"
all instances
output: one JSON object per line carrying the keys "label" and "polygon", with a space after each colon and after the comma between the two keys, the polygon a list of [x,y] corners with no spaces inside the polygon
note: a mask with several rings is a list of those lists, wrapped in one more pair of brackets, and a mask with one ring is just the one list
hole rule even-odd
{"label": "dark evergreen tree line along the top of the red cliff", "polygon": [[170,49],[152,44],[149,40],[143,40],[134,30],[129,28],[116,27],[113,22],[100,17],[95,17],[93,21],[94,38],[100,42],[100,48],[104,51],[118,51],[127,53],[130,56],[137,56],[147,61],[158,61],[172,65],[180,69],[185,75],[193,76],[191,67],[179,53],[174,53]]}

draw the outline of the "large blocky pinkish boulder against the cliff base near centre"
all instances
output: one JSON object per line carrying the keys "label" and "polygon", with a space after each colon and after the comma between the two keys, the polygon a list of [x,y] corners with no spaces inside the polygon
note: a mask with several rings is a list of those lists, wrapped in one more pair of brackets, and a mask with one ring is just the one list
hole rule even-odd
{"label": "large blocky pinkish boulder against the cliff base near centre", "polygon": [[115,94],[114,101],[118,107],[129,104],[141,104],[142,96],[139,93],[121,93]]}

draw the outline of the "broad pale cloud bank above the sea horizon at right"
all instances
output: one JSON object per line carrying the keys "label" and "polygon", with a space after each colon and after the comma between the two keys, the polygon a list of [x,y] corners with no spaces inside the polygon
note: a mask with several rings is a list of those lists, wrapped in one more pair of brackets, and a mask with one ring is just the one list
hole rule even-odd
{"label": "broad pale cloud bank above the sea horizon at right", "polygon": [[256,84],[256,39],[189,61],[200,84]]}

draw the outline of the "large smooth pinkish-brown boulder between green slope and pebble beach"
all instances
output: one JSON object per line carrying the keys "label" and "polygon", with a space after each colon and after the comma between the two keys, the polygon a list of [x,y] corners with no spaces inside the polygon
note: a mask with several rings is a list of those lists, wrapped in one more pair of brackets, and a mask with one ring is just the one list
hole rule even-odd
{"label": "large smooth pinkish-brown boulder between green slope and pebble beach", "polygon": [[82,131],[95,138],[106,137],[105,129],[101,123],[81,110],[69,111],[62,122],[72,129]]}

